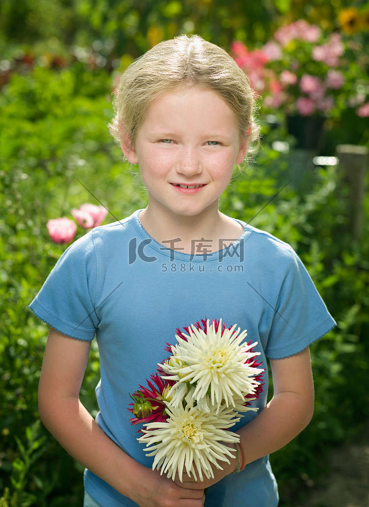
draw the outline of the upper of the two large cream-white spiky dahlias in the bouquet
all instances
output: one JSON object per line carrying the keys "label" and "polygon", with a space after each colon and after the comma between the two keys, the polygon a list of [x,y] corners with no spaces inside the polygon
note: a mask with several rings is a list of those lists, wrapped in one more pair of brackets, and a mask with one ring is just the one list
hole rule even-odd
{"label": "upper of the two large cream-white spiky dahlias in the bouquet", "polygon": [[250,395],[260,384],[253,377],[264,370],[252,366],[251,359],[260,352],[251,350],[256,343],[242,344],[247,333],[239,334],[236,325],[226,330],[222,319],[210,325],[207,320],[204,330],[192,325],[188,335],[176,335],[178,345],[171,346],[172,356],[160,365],[167,374],[162,378],[176,382],[172,406],[179,408],[183,399],[189,403],[190,396],[198,408],[219,413],[223,404],[239,410],[245,396],[251,401]]}

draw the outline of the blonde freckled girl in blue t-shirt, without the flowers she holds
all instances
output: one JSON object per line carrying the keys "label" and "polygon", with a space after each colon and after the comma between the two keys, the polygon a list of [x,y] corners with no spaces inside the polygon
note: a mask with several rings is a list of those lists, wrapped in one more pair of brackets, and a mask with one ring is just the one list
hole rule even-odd
{"label": "blonde freckled girl in blue t-shirt, without the flowers she holds", "polygon": [[[218,210],[234,165],[258,137],[248,79],[198,36],[160,43],[122,76],[110,130],[139,164],[149,200],[73,243],[32,302],[51,326],[40,416],[86,466],[85,507],[274,507],[268,454],[310,421],[309,344],[335,322],[287,244]],[[152,470],[129,423],[129,393],[165,359],[176,328],[205,316],[247,329],[266,372],[269,357],[274,394],[266,405],[265,373],[259,411],[232,428],[241,462],[181,483]],[[79,401],[95,335],[96,421]]]}

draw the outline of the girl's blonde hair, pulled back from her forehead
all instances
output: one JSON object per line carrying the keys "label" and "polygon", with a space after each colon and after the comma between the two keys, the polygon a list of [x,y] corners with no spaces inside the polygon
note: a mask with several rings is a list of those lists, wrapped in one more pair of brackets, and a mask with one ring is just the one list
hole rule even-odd
{"label": "girl's blonde hair, pulled back from her forehead", "polygon": [[199,35],[161,42],[131,63],[114,92],[110,134],[118,143],[129,137],[134,146],[151,102],[186,85],[214,91],[231,107],[240,138],[247,138],[251,152],[259,141],[259,126],[249,79],[226,51]]}

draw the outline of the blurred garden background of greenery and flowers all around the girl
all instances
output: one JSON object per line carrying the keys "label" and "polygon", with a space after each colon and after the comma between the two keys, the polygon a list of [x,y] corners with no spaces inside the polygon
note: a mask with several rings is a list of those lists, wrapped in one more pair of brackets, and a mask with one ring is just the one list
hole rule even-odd
{"label": "blurred garden background of greenery and flowers all around the girl", "polygon": [[[229,51],[260,95],[262,147],[222,211],[290,243],[338,323],[312,346],[310,426],[271,456],[280,505],[302,505],[367,426],[369,2],[0,0],[2,507],[82,505],[81,465],[39,420],[48,330],[28,304],[67,246],[50,219],[102,203],[108,223],[145,206],[108,135],[112,92],[134,58],[181,33]],[[81,393],[92,414],[98,379],[94,346]]]}

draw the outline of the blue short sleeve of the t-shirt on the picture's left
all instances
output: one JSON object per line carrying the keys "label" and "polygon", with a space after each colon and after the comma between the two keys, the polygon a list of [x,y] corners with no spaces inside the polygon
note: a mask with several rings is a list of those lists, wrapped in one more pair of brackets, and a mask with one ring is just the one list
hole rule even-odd
{"label": "blue short sleeve of the t-shirt on the picture's left", "polygon": [[96,270],[92,235],[86,234],[65,250],[30,309],[66,336],[93,340],[99,324],[94,302]]}

